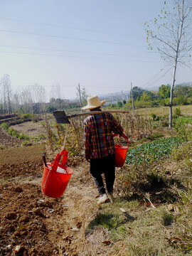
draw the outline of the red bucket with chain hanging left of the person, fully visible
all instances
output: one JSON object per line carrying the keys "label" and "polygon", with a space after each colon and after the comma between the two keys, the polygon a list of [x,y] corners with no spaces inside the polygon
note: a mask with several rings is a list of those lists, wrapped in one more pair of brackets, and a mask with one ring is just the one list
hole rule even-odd
{"label": "red bucket with chain hanging left of the person, fully visible", "polygon": [[[59,164],[61,156],[63,161]],[[44,165],[43,178],[42,178],[42,192],[51,198],[59,198],[63,195],[70,176],[73,174],[73,170],[66,166],[68,158],[68,151],[61,151],[57,154],[54,163],[48,163],[46,167]]]}

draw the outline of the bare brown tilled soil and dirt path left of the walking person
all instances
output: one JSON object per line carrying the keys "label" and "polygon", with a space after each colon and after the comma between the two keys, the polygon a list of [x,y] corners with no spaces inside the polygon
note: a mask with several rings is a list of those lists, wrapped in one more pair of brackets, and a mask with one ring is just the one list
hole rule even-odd
{"label": "bare brown tilled soil and dirt path left of the walking person", "polygon": [[100,210],[87,161],[69,159],[68,187],[50,198],[41,191],[41,154],[53,161],[45,144],[11,147],[9,139],[0,151],[0,255],[117,255],[104,230],[87,232]]}

